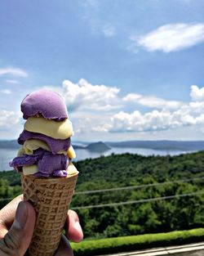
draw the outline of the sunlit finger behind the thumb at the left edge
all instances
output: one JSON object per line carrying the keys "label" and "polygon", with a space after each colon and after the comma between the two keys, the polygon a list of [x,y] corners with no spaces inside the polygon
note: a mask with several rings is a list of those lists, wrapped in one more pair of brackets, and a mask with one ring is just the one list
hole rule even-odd
{"label": "sunlit finger behind the thumb at the left edge", "polygon": [[15,199],[11,200],[9,204],[7,204],[0,211],[0,239],[3,238],[7,231],[10,229],[13,224],[16,209],[18,204],[23,200],[23,195],[17,196]]}

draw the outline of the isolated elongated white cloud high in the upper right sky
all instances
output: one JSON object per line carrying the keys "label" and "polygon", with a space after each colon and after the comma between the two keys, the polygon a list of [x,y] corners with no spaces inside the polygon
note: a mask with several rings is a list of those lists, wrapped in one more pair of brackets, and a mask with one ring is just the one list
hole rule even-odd
{"label": "isolated elongated white cloud high in the upper right sky", "polygon": [[204,42],[204,24],[167,24],[144,34],[132,37],[135,47],[142,46],[149,52],[176,52]]}

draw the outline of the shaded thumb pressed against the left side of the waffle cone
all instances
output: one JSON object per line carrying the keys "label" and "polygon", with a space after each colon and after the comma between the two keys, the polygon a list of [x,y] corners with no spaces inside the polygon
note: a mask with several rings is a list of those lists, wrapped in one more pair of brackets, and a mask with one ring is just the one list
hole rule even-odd
{"label": "shaded thumb pressed against the left side of the waffle cone", "polygon": [[32,205],[29,202],[20,202],[11,229],[0,240],[0,255],[23,256],[29,247],[34,224],[35,212]]}

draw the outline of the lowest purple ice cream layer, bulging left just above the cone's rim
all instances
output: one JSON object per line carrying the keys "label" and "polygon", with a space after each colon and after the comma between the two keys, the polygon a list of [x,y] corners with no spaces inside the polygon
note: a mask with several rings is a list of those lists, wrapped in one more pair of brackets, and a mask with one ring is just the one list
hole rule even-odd
{"label": "lowest purple ice cream layer, bulging left just above the cone's rim", "polygon": [[[53,155],[47,150],[38,149],[33,155],[18,156],[9,163],[17,171],[22,171],[23,166],[36,164],[38,166],[38,177],[50,177],[52,175],[64,177],[69,165],[69,159],[65,155]],[[59,170],[63,170],[59,172]]]}

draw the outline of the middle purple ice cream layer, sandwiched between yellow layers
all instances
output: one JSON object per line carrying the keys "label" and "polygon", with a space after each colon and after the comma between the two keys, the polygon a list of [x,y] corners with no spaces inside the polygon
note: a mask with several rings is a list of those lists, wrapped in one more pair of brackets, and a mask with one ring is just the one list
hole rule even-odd
{"label": "middle purple ice cream layer, sandwiched between yellow layers", "polygon": [[51,153],[56,154],[60,150],[68,150],[69,146],[71,145],[70,137],[68,139],[60,140],[60,139],[53,139],[52,137],[48,137],[42,133],[38,132],[29,132],[24,130],[20,133],[20,137],[18,138],[18,143],[20,145],[24,144],[24,141],[29,139],[38,139],[41,141],[45,141],[49,146]]}

